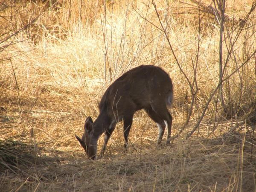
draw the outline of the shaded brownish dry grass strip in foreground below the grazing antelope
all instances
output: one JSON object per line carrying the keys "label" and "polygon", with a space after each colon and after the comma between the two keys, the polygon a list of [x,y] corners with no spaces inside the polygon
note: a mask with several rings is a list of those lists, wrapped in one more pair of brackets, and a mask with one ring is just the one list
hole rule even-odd
{"label": "shaded brownish dry grass strip in foreground below the grazing antelope", "polygon": [[4,191],[21,185],[22,191],[253,191],[256,158],[250,141],[244,135],[179,140],[96,161],[65,148],[56,154],[62,158],[48,160],[47,166],[5,172],[1,186]]}

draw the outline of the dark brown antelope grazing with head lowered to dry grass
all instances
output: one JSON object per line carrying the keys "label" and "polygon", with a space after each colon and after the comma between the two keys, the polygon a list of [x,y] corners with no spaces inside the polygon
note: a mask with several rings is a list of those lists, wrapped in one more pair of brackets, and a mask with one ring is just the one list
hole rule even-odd
{"label": "dark brown antelope grazing with head lowered to dry grass", "polygon": [[96,159],[97,143],[101,134],[105,133],[101,155],[104,154],[109,138],[116,123],[123,121],[125,148],[128,147],[128,136],[133,115],[144,109],[148,116],[156,122],[159,132],[157,144],[161,143],[167,127],[167,141],[171,140],[172,116],[167,107],[173,102],[172,80],[160,67],[145,65],[124,73],[111,84],[99,102],[99,116],[93,122],[87,117],[84,134],[80,139],[76,136],[89,159]]}

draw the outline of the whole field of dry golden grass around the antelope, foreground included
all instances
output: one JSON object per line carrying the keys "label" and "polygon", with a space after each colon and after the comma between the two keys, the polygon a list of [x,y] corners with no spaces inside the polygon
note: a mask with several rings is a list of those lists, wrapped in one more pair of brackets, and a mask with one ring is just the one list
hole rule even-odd
{"label": "whole field of dry golden grass around the antelope, foreground included", "polygon": [[[156,27],[160,23],[151,3],[113,2],[105,11],[104,2],[90,2],[90,6],[83,4],[86,14],[79,19],[79,3],[56,2],[54,9],[32,1],[19,6],[15,16],[20,20],[15,20],[15,27],[12,24],[13,30],[28,22],[23,20],[24,14],[32,17],[46,7],[47,12],[29,30],[0,45],[1,191],[256,190],[255,54],[224,82],[228,115],[215,94],[199,128],[184,140],[218,84],[219,26],[212,15],[204,15],[197,55],[199,12],[195,4],[156,1],[177,60],[190,81],[198,59],[199,91],[192,117],[170,146],[155,148],[157,126],[144,112],[138,112],[129,151],[122,149],[120,123],[104,159],[89,161],[74,134],[81,135],[86,116],[96,119],[97,104],[106,87],[125,71],[153,64],[170,74],[175,87],[172,135],[183,127],[192,95],[166,37]],[[226,13],[243,18],[251,4],[247,0],[233,7],[228,1]],[[1,15],[8,15],[10,9]],[[248,23],[233,47],[224,78],[256,49],[255,12]],[[238,29],[232,34],[237,33]],[[28,37],[32,39],[26,40]],[[20,43],[2,49],[10,41]],[[228,55],[225,48],[223,55]]]}

